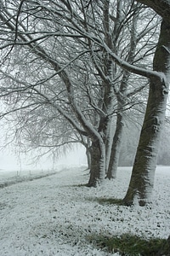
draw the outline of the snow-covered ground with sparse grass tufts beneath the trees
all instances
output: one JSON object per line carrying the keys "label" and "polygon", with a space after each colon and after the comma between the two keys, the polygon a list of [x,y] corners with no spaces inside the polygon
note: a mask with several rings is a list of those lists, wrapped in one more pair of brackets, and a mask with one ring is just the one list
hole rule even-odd
{"label": "snow-covered ground with sparse grass tufts beneath the trees", "polygon": [[[119,168],[114,181],[98,188],[77,186],[88,182],[83,168],[16,181],[16,174],[0,171],[0,256],[106,256],[88,241],[97,234],[125,233],[144,237],[170,235],[170,167],[156,169],[154,202],[146,207],[99,204],[99,198],[122,198],[130,168]],[[44,173],[45,174],[45,173]],[[42,175],[42,173],[39,173]],[[35,176],[37,177],[37,175]],[[18,177],[19,178],[19,177]]]}

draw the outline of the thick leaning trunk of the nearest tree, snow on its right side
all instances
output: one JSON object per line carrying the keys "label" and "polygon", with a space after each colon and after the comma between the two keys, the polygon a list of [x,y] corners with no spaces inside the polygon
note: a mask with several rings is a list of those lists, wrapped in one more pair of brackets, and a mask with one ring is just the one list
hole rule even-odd
{"label": "thick leaning trunk of the nearest tree, snow on its right side", "polygon": [[156,160],[170,81],[170,26],[166,25],[164,21],[161,24],[161,33],[153,64],[158,75],[150,78],[150,92],[144,124],[134,160],[132,177],[124,198],[126,205],[138,201],[140,206],[144,206],[151,199],[154,185]]}

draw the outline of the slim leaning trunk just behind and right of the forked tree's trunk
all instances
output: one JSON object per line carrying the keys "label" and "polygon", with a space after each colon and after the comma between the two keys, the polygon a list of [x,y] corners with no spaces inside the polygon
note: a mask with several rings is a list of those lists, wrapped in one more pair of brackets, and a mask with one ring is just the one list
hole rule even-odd
{"label": "slim leaning trunk just behind and right of the forked tree's trunk", "polygon": [[113,137],[113,143],[111,147],[111,158],[110,158],[108,172],[106,175],[106,177],[109,179],[116,178],[116,171],[119,163],[119,155],[120,155],[121,146],[122,146],[123,127],[124,127],[123,114],[117,113],[116,131]]}

